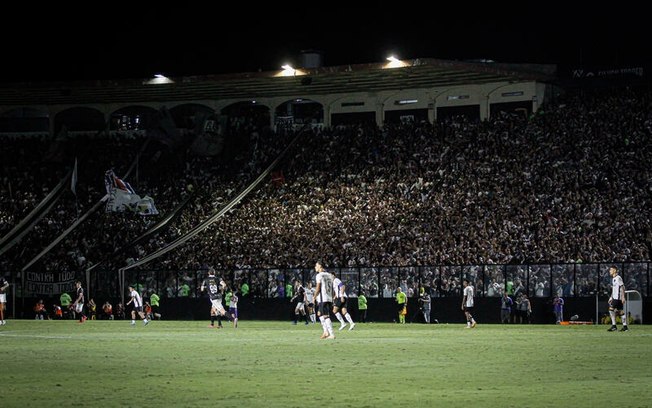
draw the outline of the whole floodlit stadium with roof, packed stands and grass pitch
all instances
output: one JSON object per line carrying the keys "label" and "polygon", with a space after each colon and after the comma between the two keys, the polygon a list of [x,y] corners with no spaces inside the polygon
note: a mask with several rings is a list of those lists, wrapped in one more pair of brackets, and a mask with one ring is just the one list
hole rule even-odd
{"label": "whole floodlit stadium with roof, packed stands and grass pitch", "polygon": [[[2,85],[3,406],[76,388],[93,388],[89,406],[646,406],[644,69],[304,57],[273,72]],[[291,325],[292,282],[314,284],[318,261],[357,322],[333,341]],[[602,324],[611,267],[628,333]],[[210,268],[239,294],[237,329],[206,328]],[[76,281],[97,305],[82,324],[55,313]],[[162,319],[103,313],[127,287],[160,297]],[[504,294],[529,306],[501,324]],[[555,324],[555,297],[584,324]]]}

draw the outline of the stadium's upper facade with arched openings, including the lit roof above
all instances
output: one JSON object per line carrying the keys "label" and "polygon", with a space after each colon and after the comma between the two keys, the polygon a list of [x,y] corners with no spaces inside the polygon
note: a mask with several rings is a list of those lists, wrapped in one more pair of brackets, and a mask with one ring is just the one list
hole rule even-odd
{"label": "stadium's upper facade with arched openings, including the lit roof above", "polygon": [[[288,67],[289,68],[289,67]],[[253,109],[270,126],[486,119],[497,110],[536,112],[555,66],[414,59],[396,63],[289,68],[219,76],[0,87],[0,133],[144,130],[162,108],[179,129],[199,112]]]}

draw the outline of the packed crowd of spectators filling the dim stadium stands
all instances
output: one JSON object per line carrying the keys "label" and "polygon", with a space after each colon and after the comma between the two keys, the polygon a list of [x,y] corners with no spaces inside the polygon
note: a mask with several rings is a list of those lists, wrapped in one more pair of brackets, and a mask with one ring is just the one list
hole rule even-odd
{"label": "packed crowd of spectators filling the dim stadium stands", "polygon": [[[378,293],[400,283],[390,267],[649,261],[651,96],[637,89],[578,92],[529,118],[500,113],[484,122],[458,117],[434,125],[315,128],[277,166],[281,182],[266,182],[148,268],[307,268],[322,259],[330,267],[385,268],[378,283],[368,274],[365,287]],[[197,156],[122,134],[57,142],[2,137],[2,236],[59,182],[74,157],[80,167],[77,194],[65,193],[0,258],[0,271],[20,270],[103,196],[104,171],[124,174],[139,151],[127,180],[154,197],[161,215],[102,209],[38,268],[81,272],[101,261],[102,268],[117,269],[182,236],[295,136],[248,129],[248,140],[239,139],[229,157]],[[190,195],[163,232],[126,245]],[[454,271],[442,269],[433,286],[458,293]],[[504,284],[497,274],[487,291],[494,283]],[[405,284],[417,289],[415,280]]]}

